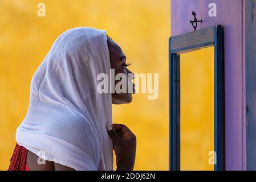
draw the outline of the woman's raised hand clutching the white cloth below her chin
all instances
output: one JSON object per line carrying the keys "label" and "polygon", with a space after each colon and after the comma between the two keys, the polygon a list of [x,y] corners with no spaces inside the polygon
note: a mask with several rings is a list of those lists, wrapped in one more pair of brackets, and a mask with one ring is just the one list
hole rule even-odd
{"label": "woman's raised hand clutching the white cloth below her chin", "polygon": [[113,140],[116,154],[116,171],[132,171],[135,164],[136,136],[121,124],[107,124],[109,137]]}

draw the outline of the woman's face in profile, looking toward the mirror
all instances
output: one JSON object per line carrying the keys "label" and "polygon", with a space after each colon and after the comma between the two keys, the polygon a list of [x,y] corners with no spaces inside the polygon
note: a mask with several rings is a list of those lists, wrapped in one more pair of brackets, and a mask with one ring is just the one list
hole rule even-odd
{"label": "woman's face in profile, looking toward the mirror", "polygon": [[[112,93],[112,104],[128,104],[132,102],[132,94],[135,93],[135,84],[132,83],[133,85],[133,90],[132,93],[128,92],[128,83],[131,82],[131,76],[128,77],[129,75],[133,75],[131,71],[127,68],[128,65],[126,63],[126,57],[120,48],[120,46],[114,42],[113,40],[109,39],[108,40],[108,49],[109,49],[109,56],[110,56],[110,64],[111,64],[111,69],[115,69],[115,77],[119,73],[123,73],[126,76],[126,82],[127,82],[127,92],[126,93]],[[121,81],[116,80],[115,81],[115,88],[116,84]]]}

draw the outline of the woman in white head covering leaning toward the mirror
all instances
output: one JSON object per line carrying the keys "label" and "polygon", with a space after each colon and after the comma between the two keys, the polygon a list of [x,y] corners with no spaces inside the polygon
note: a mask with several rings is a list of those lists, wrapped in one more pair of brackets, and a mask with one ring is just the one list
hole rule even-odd
{"label": "woman in white head covering leaning toward the mirror", "polygon": [[117,170],[133,170],[136,137],[112,125],[111,110],[111,104],[131,102],[132,93],[97,90],[97,77],[111,78],[111,68],[131,85],[125,61],[104,30],[72,28],[60,35],[32,78],[9,170],[112,170],[113,150]]}

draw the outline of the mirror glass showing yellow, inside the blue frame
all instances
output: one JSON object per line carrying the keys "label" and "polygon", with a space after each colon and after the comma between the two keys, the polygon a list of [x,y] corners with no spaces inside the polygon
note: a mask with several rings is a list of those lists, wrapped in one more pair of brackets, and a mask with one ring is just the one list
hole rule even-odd
{"label": "mirror glass showing yellow, inside the blue frame", "polygon": [[213,170],[214,47],[182,54],[180,68],[181,170]]}

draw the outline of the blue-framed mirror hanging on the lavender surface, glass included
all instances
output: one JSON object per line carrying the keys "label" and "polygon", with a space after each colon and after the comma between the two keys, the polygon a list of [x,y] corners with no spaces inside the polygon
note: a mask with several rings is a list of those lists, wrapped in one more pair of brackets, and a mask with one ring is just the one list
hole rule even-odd
{"label": "blue-framed mirror hanging on the lavender surface, glass included", "polygon": [[169,169],[224,170],[223,27],[169,39]]}

